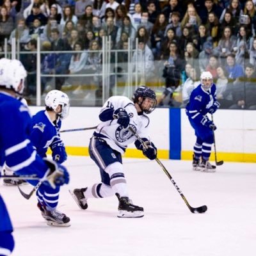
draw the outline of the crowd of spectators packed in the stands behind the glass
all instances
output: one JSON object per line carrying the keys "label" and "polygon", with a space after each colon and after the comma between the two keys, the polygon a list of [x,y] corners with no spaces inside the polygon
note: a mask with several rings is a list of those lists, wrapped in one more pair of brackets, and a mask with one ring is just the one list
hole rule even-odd
{"label": "crowd of spectators packed in the stands behind the glass", "polygon": [[[29,74],[27,93],[35,95],[38,37],[41,50],[51,52],[42,56],[42,74],[63,75],[56,78],[58,90],[65,74],[100,73],[104,36],[111,38],[113,50],[127,51],[129,44],[134,48],[138,42],[132,63],[138,62],[140,83],[162,77],[160,106],[185,106],[200,82],[200,72],[207,70],[214,77],[222,108],[256,109],[255,4],[255,0],[1,0],[0,50],[5,38],[9,45],[16,38],[20,51],[31,53],[20,60]],[[124,70],[127,52],[118,52],[115,61],[119,71]],[[102,86],[99,77],[88,79]],[[42,93],[48,80],[42,77]],[[81,82],[77,80],[73,83]],[[177,92],[182,99],[175,99]]]}

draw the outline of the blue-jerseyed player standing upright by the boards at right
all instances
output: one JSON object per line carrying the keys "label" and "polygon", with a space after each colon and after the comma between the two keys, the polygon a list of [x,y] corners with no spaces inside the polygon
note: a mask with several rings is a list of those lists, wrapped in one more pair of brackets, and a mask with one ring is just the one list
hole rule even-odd
{"label": "blue-jerseyed player standing upright by the boards at right", "polygon": [[214,141],[216,125],[209,120],[207,113],[213,114],[220,108],[216,100],[216,85],[212,83],[212,74],[202,72],[199,84],[191,93],[186,106],[189,122],[195,129],[196,143],[194,145],[193,170],[215,172],[216,166],[209,163],[211,146]]}

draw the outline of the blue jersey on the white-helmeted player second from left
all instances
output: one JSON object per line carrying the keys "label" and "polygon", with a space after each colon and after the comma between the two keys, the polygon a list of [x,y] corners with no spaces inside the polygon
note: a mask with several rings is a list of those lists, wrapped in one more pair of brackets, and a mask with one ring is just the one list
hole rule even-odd
{"label": "blue jersey on the white-helmeted player second from left", "polygon": [[60,127],[61,121],[54,124],[47,111],[39,111],[33,116],[30,139],[39,156],[46,157],[47,148],[51,147],[52,143],[62,142],[59,134]]}

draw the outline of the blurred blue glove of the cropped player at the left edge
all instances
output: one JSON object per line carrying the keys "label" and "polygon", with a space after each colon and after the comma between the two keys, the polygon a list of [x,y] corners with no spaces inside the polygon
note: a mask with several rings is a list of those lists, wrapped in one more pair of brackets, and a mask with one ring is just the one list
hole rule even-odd
{"label": "blurred blue glove of the cropped player at the left edge", "polygon": [[62,186],[68,184],[69,173],[65,166],[57,164],[52,160],[44,158],[45,164],[49,167],[47,170],[47,180],[44,182],[47,186],[56,188],[56,186]]}

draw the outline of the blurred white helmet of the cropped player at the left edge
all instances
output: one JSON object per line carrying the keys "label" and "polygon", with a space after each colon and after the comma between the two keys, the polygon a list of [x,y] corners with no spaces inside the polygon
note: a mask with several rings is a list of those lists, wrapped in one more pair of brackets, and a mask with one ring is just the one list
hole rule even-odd
{"label": "blurred white helmet of the cropped player at the left edge", "polygon": [[[0,60],[0,86],[11,89],[21,95],[27,72],[19,60]],[[21,83],[20,83],[21,82]]]}

